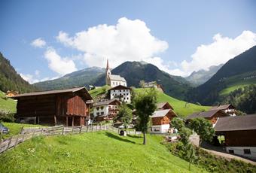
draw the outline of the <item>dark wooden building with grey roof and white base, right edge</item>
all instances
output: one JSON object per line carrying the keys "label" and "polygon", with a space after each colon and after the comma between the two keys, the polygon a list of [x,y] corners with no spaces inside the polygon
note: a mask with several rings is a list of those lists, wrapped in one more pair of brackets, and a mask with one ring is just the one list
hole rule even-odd
{"label": "dark wooden building with grey roof and white base, right edge", "polygon": [[256,114],[221,117],[215,134],[224,135],[228,153],[256,159]]}

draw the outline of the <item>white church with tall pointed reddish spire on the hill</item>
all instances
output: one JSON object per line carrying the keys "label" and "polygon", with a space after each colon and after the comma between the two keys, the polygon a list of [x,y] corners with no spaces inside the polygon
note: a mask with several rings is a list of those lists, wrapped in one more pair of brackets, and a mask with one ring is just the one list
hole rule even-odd
{"label": "white church with tall pointed reddish spire on the hill", "polygon": [[111,70],[109,68],[108,60],[107,60],[107,68],[105,69],[105,83],[111,87],[122,85],[127,86],[126,80],[120,75],[111,74]]}

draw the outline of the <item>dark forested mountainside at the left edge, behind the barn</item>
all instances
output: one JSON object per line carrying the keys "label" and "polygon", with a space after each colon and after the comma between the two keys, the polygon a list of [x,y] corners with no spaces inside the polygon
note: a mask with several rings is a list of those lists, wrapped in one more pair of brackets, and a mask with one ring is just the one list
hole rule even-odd
{"label": "dark forested mountainside at the left edge, behind the barn", "polygon": [[15,90],[19,93],[35,91],[35,86],[30,85],[26,80],[17,74],[8,59],[0,53],[0,90],[7,92]]}

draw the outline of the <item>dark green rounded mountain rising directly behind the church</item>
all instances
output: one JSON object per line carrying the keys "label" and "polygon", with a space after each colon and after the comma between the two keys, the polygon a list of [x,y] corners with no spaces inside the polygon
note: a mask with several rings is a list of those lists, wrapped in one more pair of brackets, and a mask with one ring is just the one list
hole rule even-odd
{"label": "dark green rounded mountain rising directly behind the church", "polygon": [[[163,86],[166,94],[177,99],[184,99],[185,93],[191,87],[183,77],[172,76],[161,71],[157,66],[145,62],[123,62],[112,69],[111,74],[119,74],[126,79],[128,86],[135,87],[139,87],[140,80],[145,80],[145,82],[155,80]],[[94,85],[105,85],[105,74],[101,74]]]}

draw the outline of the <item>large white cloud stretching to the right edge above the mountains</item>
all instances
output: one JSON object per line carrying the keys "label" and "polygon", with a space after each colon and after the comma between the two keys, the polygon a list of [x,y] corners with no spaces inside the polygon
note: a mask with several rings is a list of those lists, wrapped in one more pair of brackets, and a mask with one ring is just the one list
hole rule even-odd
{"label": "large white cloud stretching to the right edge above the mountains", "polygon": [[197,47],[196,52],[191,56],[190,62],[181,62],[181,68],[174,71],[188,75],[200,69],[209,70],[211,65],[220,65],[233,59],[240,53],[256,45],[256,33],[244,31],[236,38],[227,38],[221,34],[213,37],[211,44],[202,44]]}

